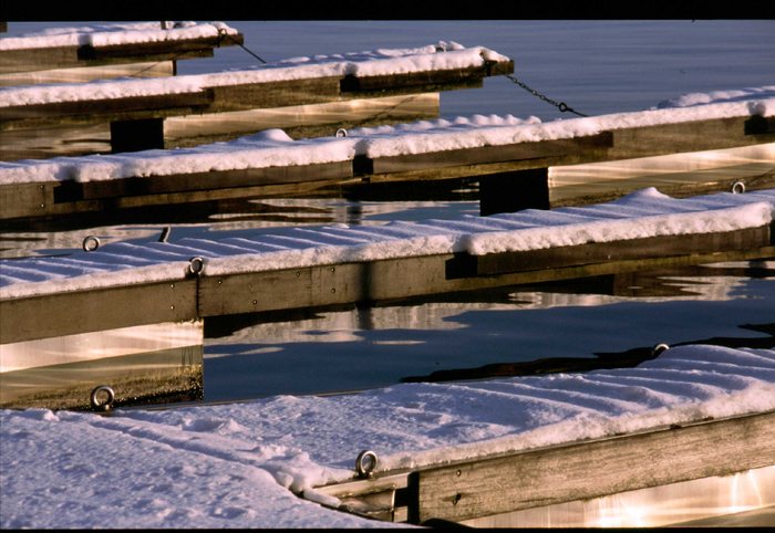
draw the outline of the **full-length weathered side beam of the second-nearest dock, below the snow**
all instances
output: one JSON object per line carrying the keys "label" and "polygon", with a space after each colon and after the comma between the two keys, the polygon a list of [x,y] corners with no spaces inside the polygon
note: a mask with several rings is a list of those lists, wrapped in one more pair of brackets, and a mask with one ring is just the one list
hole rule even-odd
{"label": "full-length weathered side beam of the second-nearest dock, below the snow", "polygon": [[[196,280],[86,290],[0,301],[0,343],[131,325],[267,311],[388,303],[433,294],[775,257],[775,247],[691,253],[502,274],[451,275],[453,254],[209,275]],[[396,280],[401,280],[396,283]],[[198,283],[198,289],[197,289]],[[70,312],[79,310],[79,320]]]}

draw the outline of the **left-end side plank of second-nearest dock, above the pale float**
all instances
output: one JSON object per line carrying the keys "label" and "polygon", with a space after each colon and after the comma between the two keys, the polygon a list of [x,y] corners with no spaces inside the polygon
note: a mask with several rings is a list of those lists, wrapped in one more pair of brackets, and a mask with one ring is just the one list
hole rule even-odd
{"label": "left-end side plank of second-nearest dock, above the pale float", "polygon": [[189,279],[7,299],[0,301],[0,343],[189,321],[197,317],[196,296]]}

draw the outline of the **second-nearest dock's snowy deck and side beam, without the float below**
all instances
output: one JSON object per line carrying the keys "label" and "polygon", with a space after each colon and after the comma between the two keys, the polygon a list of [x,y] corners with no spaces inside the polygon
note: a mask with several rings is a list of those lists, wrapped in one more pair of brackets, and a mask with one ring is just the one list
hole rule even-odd
{"label": "second-nearest dock's snowy deck and side beam, without the float below", "polygon": [[[645,189],[603,205],[486,218],[207,238],[177,239],[173,231],[163,242],[103,245],[86,239],[84,250],[69,255],[0,264],[2,343],[373,303],[650,263],[773,257],[774,191],[678,200]],[[78,321],[68,318],[73,309]]]}

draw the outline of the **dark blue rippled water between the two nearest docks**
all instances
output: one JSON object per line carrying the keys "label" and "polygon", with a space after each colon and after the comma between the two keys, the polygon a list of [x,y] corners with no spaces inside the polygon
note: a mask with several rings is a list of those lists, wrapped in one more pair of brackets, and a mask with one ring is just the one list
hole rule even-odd
{"label": "dark blue rippled water between the two nearest docks", "polygon": [[774,275],[731,262],[211,320],[206,398],[634,366],[658,343],[772,348]]}

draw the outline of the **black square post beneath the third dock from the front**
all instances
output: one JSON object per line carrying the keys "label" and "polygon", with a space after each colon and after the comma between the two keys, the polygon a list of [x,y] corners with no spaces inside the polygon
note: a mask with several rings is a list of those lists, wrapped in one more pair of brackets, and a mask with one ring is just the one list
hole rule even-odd
{"label": "black square post beneath the third dock from the front", "polygon": [[530,168],[479,178],[479,215],[549,209],[549,169]]}

